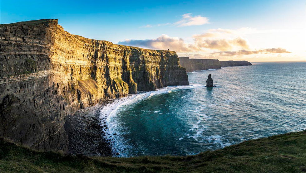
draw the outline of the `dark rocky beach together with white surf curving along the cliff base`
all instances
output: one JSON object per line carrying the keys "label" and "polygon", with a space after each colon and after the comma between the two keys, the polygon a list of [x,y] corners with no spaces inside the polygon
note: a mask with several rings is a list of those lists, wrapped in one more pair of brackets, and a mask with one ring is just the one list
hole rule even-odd
{"label": "dark rocky beach together with white surf curving along the cliff base", "polygon": [[115,142],[118,142],[120,134],[115,131],[116,122],[111,120],[121,106],[174,90],[204,87],[205,85],[190,84],[168,86],[149,92],[139,91],[138,94],[130,94],[120,99],[105,99],[95,106],[79,109],[75,115],[67,117],[64,125],[69,137],[68,153],[86,156],[124,156],[117,151],[116,147],[119,144]]}

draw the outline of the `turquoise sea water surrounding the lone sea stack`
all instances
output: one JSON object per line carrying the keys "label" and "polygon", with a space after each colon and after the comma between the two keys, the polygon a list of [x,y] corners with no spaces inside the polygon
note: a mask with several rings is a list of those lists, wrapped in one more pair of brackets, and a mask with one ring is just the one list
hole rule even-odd
{"label": "turquoise sea water surrounding the lone sea stack", "polygon": [[[214,88],[206,88],[211,74]],[[107,119],[119,156],[189,155],[306,129],[306,63],[188,73],[190,86],[132,97]]]}

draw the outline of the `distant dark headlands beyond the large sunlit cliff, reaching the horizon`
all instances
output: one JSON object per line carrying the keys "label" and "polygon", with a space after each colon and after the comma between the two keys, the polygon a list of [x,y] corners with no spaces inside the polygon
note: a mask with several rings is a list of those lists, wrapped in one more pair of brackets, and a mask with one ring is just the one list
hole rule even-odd
{"label": "distant dark headlands beyond the large sunlit cliff, reaching the horizon", "polygon": [[186,72],[196,70],[221,69],[227,66],[252,65],[248,61],[219,61],[213,59],[189,59],[189,57],[179,57],[180,65],[186,69]]}

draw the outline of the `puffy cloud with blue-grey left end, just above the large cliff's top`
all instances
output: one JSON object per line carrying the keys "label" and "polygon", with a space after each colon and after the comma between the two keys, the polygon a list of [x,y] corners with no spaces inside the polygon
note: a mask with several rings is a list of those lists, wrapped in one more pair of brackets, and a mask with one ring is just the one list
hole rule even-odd
{"label": "puffy cloud with blue-grey left end, just above the large cliff's top", "polygon": [[186,44],[182,38],[170,37],[168,35],[161,35],[156,39],[147,40],[125,40],[120,41],[118,44],[127,46],[143,47],[148,49],[159,50],[174,50],[177,52],[191,52],[197,48],[191,44]]}

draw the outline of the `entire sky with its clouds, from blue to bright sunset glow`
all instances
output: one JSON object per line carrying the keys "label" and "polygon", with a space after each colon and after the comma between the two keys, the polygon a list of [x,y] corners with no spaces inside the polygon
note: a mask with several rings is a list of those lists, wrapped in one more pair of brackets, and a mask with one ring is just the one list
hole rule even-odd
{"label": "entire sky with its clouds, from blue to bright sunset glow", "polygon": [[306,61],[305,0],[0,0],[0,24],[38,19],[58,19],[86,38],[190,58]]}

